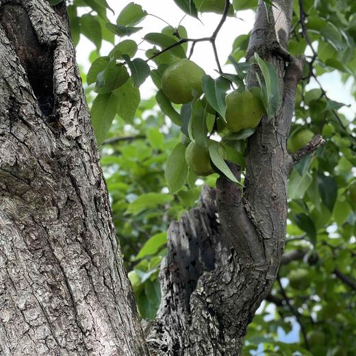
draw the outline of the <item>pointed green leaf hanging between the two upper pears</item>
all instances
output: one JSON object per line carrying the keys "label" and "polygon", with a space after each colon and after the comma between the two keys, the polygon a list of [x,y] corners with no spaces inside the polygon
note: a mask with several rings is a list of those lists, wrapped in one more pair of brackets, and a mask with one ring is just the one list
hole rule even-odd
{"label": "pointed green leaf hanging between the two upper pears", "polygon": [[213,109],[220,114],[220,116],[225,119],[226,112],[226,92],[230,89],[230,81],[218,77],[218,79],[213,79],[209,75],[204,75],[202,79],[203,92],[205,97]]}

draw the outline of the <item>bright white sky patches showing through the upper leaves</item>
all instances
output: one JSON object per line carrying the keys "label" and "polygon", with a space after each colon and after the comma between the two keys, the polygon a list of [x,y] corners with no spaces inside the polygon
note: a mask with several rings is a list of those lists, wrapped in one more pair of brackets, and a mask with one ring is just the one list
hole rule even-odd
{"label": "bright white sky patches showing through the upper leaves", "polygon": [[[109,3],[115,12],[115,14],[112,14],[112,12],[108,11],[110,21],[115,23],[120,11],[130,2],[130,0],[107,0],[107,3]],[[175,5],[173,0],[136,0],[134,2],[142,5],[142,8],[149,12],[149,14],[155,14],[173,26],[177,26],[184,16],[184,13]],[[221,64],[225,63],[227,56],[231,53],[233,40],[240,34],[247,34],[253,27],[254,13],[251,10],[238,12],[237,16],[238,18],[227,18],[216,40]],[[201,22],[191,16],[186,16],[183,18],[181,25],[186,27],[189,38],[201,38],[210,36],[219,20],[220,16],[207,13],[201,15]],[[142,25],[144,29],[130,36],[130,38],[136,40],[138,43],[144,34],[148,32],[159,32],[162,28],[166,27],[166,23],[153,16],[147,16],[140,25]],[[139,46],[141,50],[139,50],[136,55],[145,58],[144,50],[149,47],[149,44],[142,43]],[[101,47],[101,55],[107,55],[110,49],[112,49],[112,44],[104,41]],[[90,66],[88,55],[93,50],[94,45],[84,38],[84,36],[81,36],[81,40],[77,46],[77,60],[79,64],[84,67],[84,70],[88,70]],[[202,66],[207,74],[216,77],[216,62],[209,42],[196,44],[192,60]],[[356,102],[350,94],[352,82],[348,81],[348,83],[343,84],[337,72],[322,75],[320,82],[331,99],[350,105],[350,107],[342,107],[340,111],[348,118],[355,117]],[[308,88],[318,88],[318,85],[311,82]],[[148,99],[155,94],[156,88],[150,78],[141,86],[140,91],[143,99]]]}

